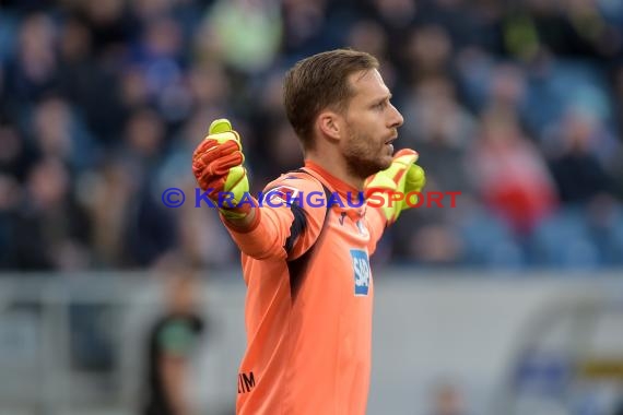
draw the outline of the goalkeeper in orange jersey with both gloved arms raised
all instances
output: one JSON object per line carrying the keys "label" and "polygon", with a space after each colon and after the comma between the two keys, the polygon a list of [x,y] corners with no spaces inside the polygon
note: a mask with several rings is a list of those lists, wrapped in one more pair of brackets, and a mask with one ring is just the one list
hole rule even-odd
{"label": "goalkeeper in orange jersey with both gloved arms raised", "polygon": [[[237,414],[366,412],[369,256],[384,229],[409,208],[400,195],[425,182],[418,153],[393,154],[403,119],[390,99],[378,61],[368,54],[338,49],[297,62],[285,76],[284,105],[305,166],[267,186],[263,201],[274,203],[245,203],[244,140],[228,121],[214,121],[195,151],[199,186],[214,201],[219,192],[234,194],[220,215],[242,250],[248,287]],[[387,203],[318,208],[296,197],[320,192],[326,202],[331,194],[345,201],[362,191]]]}

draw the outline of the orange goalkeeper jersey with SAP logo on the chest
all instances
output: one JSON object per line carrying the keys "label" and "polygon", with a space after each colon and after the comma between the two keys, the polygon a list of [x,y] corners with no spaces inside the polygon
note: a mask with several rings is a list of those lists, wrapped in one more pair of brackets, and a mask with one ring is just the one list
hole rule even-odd
{"label": "orange goalkeeper jersey with SAP logo on the chest", "polygon": [[[248,286],[237,414],[365,414],[369,256],[386,220],[378,209],[351,208],[346,198],[360,204],[356,195],[306,162],[268,185],[250,230],[228,226]],[[281,203],[286,197],[291,205]]]}

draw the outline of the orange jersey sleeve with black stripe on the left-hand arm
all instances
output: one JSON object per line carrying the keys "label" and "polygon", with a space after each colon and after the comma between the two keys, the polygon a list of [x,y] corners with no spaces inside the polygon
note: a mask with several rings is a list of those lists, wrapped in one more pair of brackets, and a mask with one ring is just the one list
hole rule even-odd
{"label": "orange jersey sleeve with black stripe on the left-hand arm", "polygon": [[325,223],[322,185],[304,173],[269,183],[257,198],[256,220],[244,232],[223,221],[238,248],[255,259],[294,260],[315,241]]}

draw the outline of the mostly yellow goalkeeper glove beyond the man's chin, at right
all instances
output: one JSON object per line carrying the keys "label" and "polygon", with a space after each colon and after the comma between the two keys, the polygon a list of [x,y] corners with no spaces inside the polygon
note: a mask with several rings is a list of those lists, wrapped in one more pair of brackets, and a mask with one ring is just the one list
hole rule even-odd
{"label": "mostly yellow goalkeeper glove beyond the man's chin, at right", "polygon": [[388,224],[395,223],[403,210],[418,204],[418,195],[411,192],[420,192],[426,185],[424,169],[415,164],[419,157],[413,150],[400,150],[391,166],[372,175],[364,183],[366,200],[374,197],[374,204],[372,201],[368,204],[380,205]]}

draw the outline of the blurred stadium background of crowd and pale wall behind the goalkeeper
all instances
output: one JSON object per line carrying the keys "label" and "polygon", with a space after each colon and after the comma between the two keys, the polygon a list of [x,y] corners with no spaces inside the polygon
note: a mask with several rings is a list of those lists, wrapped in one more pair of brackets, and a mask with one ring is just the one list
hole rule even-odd
{"label": "blurred stadium background of crowd and pale wall behind the goalkeeper", "polygon": [[461,192],[374,258],[369,414],[623,413],[622,1],[2,0],[0,414],[138,414],[180,261],[209,322],[188,393],[233,413],[238,252],[161,194],[193,194],[214,118],[255,191],[297,167],[282,75],[342,46],[381,60],[427,190]]}

